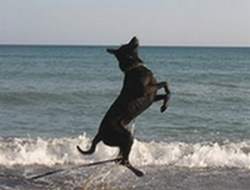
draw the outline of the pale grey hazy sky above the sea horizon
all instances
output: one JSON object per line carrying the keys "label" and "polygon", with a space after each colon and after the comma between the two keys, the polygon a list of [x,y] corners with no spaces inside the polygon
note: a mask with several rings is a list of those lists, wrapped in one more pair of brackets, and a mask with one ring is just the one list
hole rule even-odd
{"label": "pale grey hazy sky above the sea horizon", "polygon": [[250,0],[0,0],[0,44],[250,46]]}

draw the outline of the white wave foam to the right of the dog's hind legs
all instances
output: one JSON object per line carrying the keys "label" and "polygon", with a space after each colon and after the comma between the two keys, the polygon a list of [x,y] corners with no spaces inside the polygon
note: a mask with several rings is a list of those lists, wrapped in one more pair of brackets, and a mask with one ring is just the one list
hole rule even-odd
{"label": "white wave foam to the right of the dog's hind legs", "polygon": [[250,142],[224,144],[136,141],[131,160],[140,165],[236,167],[250,169]]}

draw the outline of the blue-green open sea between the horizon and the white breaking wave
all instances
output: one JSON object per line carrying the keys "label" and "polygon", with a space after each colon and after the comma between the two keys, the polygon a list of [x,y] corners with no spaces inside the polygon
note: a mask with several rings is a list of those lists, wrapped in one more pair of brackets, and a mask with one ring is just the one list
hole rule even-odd
{"label": "blue-green open sea between the horizon and the white breaking wave", "polygon": [[[136,121],[144,139],[250,137],[250,49],[141,48],[172,91]],[[123,74],[105,47],[1,46],[1,136],[94,135]],[[52,133],[53,131],[53,133]]]}

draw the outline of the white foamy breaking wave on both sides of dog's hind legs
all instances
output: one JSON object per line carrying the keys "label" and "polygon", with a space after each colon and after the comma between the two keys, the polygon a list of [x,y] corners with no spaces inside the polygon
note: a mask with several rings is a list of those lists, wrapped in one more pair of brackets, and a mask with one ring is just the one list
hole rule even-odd
{"label": "white foamy breaking wave on both sides of dog's hind legs", "polygon": [[[100,143],[91,156],[82,156],[91,143],[85,134],[75,138],[0,138],[0,165],[81,164],[114,158],[117,148]],[[250,141],[238,143],[142,142],[135,140],[130,160],[138,166],[172,165],[190,168],[236,167],[250,169]]]}

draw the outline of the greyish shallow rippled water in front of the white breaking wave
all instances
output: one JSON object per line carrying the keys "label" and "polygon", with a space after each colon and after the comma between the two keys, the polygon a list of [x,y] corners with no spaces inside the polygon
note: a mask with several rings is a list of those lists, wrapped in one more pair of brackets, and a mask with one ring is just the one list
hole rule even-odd
{"label": "greyish shallow rippled water in front of the white breaking wave", "polygon": [[[53,176],[40,181],[23,177],[0,176],[1,189],[157,189],[159,190],[248,190],[249,172],[238,169],[190,170],[187,168],[164,167],[144,169],[147,175],[135,178],[122,168],[93,168],[91,174],[70,172],[63,177]],[[73,177],[74,176],[74,177]],[[21,187],[21,188],[20,188]]]}

